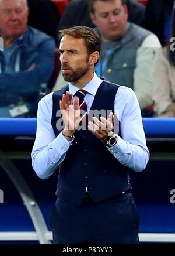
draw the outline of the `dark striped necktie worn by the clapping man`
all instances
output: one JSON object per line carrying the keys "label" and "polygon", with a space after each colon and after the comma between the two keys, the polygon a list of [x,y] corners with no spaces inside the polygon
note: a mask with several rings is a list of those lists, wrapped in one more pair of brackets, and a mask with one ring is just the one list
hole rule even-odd
{"label": "dark striped necktie worn by the clapping man", "polygon": [[[85,100],[84,100],[84,97],[86,95],[87,91],[81,89],[81,90],[78,90],[76,93],[75,93],[75,96],[79,98],[79,108],[81,110],[81,122],[80,124],[86,120],[86,117],[88,116],[88,107],[85,103]],[[83,110],[83,111],[82,111]]]}

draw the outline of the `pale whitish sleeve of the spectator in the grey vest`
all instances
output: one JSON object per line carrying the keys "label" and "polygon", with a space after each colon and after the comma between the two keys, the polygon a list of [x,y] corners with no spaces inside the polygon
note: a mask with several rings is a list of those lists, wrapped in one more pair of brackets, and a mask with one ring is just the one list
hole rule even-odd
{"label": "pale whitish sleeve of the spectator in the grey vest", "polygon": [[134,91],[142,108],[152,105],[152,78],[154,56],[161,45],[156,35],[146,37],[136,53],[134,70]]}

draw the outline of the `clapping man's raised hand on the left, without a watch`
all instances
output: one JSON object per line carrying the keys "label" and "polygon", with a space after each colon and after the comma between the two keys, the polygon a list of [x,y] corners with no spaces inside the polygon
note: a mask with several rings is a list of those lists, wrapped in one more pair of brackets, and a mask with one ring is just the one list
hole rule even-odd
{"label": "clapping man's raised hand on the left, without a watch", "polygon": [[73,105],[72,97],[72,93],[69,93],[69,91],[67,91],[66,94],[62,95],[62,100],[60,100],[62,120],[65,124],[65,128],[63,131],[65,136],[72,136],[81,121],[79,98],[75,98]]}

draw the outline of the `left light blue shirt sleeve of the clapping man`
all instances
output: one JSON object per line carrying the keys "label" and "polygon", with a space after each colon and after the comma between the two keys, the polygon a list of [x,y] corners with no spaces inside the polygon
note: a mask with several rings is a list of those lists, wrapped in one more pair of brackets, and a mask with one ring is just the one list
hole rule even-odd
{"label": "left light blue shirt sleeve of the clapping man", "polygon": [[31,152],[31,164],[41,179],[49,178],[59,168],[71,145],[62,132],[55,137],[51,126],[51,95],[38,104],[36,139]]}

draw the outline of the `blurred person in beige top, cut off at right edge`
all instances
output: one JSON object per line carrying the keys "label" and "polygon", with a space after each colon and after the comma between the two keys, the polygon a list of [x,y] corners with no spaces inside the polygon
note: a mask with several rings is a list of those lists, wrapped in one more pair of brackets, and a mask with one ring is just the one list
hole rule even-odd
{"label": "blurred person in beige top, cut off at right edge", "polygon": [[175,18],[173,18],[168,46],[155,56],[153,73],[153,100],[155,117],[175,117]]}

